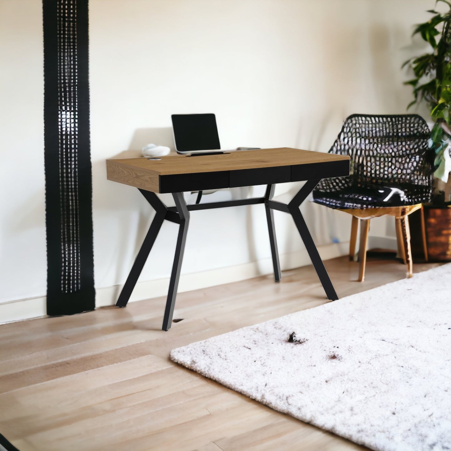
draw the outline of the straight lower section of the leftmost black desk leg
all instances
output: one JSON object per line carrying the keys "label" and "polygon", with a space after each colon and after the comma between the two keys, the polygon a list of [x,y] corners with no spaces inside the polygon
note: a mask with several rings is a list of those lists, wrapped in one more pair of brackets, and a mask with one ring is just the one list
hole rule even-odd
{"label": "straight lower section of the leftmost black desk leg", "polygon": [[138,281],[138,277],[143,270],[144,263],[155,243],[156,236],[160,231],[161,224],[165,220],[166,210],[164,212],[157,211],[155,217],[153,218],[152,224],[149,227],[146,238],[144,238],[141,249],[139,249],[138,255],[135,258],[132,269],[130,270],[129,276],[125,281],[122,291],[120,292],[119,299],[116,302],[116,307],[125,307],[127,302],[129,302],[130,295],[132,294],[133,288]]}

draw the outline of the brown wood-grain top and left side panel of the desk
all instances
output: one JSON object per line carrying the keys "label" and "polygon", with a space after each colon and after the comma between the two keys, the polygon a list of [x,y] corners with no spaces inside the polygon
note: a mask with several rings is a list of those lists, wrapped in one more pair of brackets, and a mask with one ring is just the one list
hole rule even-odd
{"label": "brown wood-grain top and left side panel of the desk", "polygon": [[[175,175],[198,174],[199,177],[202,178],[200,176],[201,174],[216,173],[216,175],[220,177],[229,171],[280,168],[281,166],[291,167],[340,161],[347,161],[349,170],[349,160],[350,158],[348,156],[343,155],[281,147],[274,149],[234,151],[217,155],[168,155],[162,156],[161,160],[148,160],[147,157],[116,158],[106,160],[106,171],[107,179],[109,180],[141,189],[147,189],[148,191],[153,191],[155,193],[162,193],[168,191],[161,190],[161,178],[169,180],[171,179],[171,176]],[[208,178],[208,176],[212,179],[215,175],[205,174],[204,178]],[[330,176],[331,175],[329,175],[329,177]],[[173,180],[173,178],[171,180]],[[291,181],[291,179],[285,181]],[[226,182],[223,181],[220,184],[223,185],[225,183]],[[271,181],[268,181],[268,183],[271,183]],[[217,188],[227,188],[230,186],[233,185],[218,186]],[[210,188],[205,186],[204,188],[199,189]],[[184,189],[184,191],[189,190],[190,189]]]}

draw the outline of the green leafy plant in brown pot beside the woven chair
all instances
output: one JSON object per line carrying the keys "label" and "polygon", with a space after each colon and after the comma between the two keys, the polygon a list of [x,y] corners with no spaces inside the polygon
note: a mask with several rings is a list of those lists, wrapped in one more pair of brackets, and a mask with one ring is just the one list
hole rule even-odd
{"label": "green leafy plant in brown pot beside the woven chair", "polygon": [[451,260],[451,3],[440,13],[428,12],[433,17],[420,23],[414,30],[430,44],[431,51],[407,60],[414,78],[405,84],[413,87],[414,100],[407,108],[426,102],[434,125],[429,146],[435,152],[434,195],[431,204],[423,208],[426,223],[428,254],[431,260]]}

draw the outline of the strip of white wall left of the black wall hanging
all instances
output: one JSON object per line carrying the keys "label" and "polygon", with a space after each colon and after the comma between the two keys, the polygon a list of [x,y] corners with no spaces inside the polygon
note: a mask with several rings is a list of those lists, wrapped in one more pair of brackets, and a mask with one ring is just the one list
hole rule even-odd
{"label": "strip of white wall left of the black wall hanging", "polygon": [[0,1],[0,302],[46,293],[41,11]]}

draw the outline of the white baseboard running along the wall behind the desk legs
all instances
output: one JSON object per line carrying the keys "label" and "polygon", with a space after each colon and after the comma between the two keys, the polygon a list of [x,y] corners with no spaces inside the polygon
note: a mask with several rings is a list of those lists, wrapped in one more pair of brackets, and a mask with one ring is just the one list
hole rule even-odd
{"label": "white baseboard running along the wall behind the desk legs", "polygon": [[[395,241],[396,243],[396,241]],[[349,252],[349,243],[333,243],[318,246],[323,260],[340,257]],[[298,251],[280,255],[281,269],[293,269],[310,265],[307,252]],[[272,273],[272,259],[265,258],[256,262],[244,263],[225,268],[212,269],[202,272],[181,274],[179,292],[198,290],[208,286],[242,281],[252,277]],[[142,299],[156,298],[167,293],[169,277],[152,281],[138,282],[133,290],[129,302]],[[122,285],[113,285],[96,289],[96,308],[114,305],[119,296]],[[0,304],[0,324],[20,321],[23,319],[46,316],[46,297],[17,299]]]}

